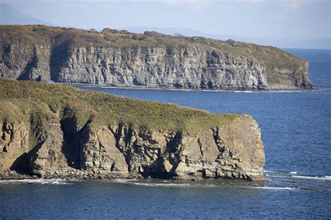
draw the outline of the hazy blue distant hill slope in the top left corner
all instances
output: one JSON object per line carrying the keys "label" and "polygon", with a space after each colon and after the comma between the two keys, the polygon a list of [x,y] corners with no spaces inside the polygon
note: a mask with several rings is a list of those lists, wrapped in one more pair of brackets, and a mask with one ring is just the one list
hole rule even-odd
{"label": "hazy blue distant hill slope in the top left corner", "polygon": [[0,24],[45,24],[54,26],[49,22],[25,15],[5,3],[0,3]]}

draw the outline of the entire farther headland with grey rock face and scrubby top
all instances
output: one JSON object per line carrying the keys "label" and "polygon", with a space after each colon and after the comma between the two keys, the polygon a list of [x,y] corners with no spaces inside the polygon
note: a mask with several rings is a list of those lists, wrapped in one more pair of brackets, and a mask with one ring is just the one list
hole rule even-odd
{"label": "entire farther headland with grey rock face and scrubby top", "polygon": [[0,75],[66,84],[223,90],[312,88],[308,62],[234,40],[0,26]]}

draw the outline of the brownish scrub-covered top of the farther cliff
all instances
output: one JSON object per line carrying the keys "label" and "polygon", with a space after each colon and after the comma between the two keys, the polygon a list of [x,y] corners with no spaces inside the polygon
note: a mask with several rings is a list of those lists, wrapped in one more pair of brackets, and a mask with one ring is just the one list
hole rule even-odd
{"label": "brownish scrub-covered top of the farther cliff", "polygon": [[82,29],[60,28],[44,25],[1,25],[0,42],[2,45],[61,45],[73,47],[122,47],[151,48],[164,47],[168,51],[184,47],[200,47],[209,51],[216,50],[244,58],[263,61],[271,71],[273,68],[298,68],[304,61],[277,47],[265,47],[233,40],[213,40],[202,37],[168,36],[153,31],[144,34],[103,29],[86,31]]}

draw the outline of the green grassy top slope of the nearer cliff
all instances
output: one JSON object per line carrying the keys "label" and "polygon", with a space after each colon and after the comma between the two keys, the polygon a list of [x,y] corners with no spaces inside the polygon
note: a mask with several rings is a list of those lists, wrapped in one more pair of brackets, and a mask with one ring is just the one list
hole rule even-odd
{"label": "green grassy top slope of the nearer cliff", "polygon": [[[71,86],[0,79],[0,120],[30,120],[34,114],[78,118],[80,127],[89,118],[94,125],[124,123],[138,129],[197,131],[230,123],[235,114],[212,114],[176,104],[134,100]],[[71,111],[64,111],[71,109]]]}

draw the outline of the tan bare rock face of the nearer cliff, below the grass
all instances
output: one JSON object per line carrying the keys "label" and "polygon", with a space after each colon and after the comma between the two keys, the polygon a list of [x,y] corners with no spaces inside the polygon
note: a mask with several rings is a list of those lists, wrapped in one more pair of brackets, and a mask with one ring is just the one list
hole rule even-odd
{"label": "tan bare rock face of the nearer cliff, below the grass", "polygon": [[89,121],[66,136],[61,123],[55,113],[45,120],[31,116],[29,123],[2,122],[0,173],[13,170],[43,178],[263,178],[263,144],[251,116],[200,132],[142,131]]}

